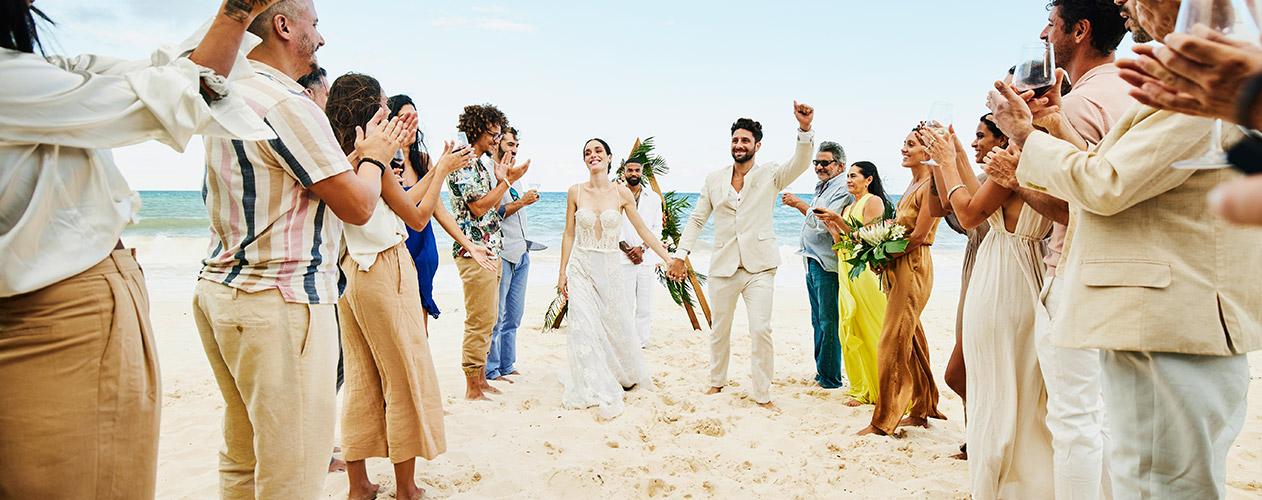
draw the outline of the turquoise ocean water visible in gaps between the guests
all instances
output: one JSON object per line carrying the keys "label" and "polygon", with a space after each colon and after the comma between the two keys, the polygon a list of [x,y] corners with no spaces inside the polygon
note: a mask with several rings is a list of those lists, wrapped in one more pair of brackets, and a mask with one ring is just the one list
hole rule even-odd
{"label": "turquoise ocean water visible in gaps between the guests", "polygon": [[[697,201],[697,193],[689,193],[690,201]],[[810,193],[799,193],[808,202]],[[202,193],[197,191],[141,191],[140,221],[124,231],[127,236],[165,236],[165,237],[207,237],[209,221],[206,217],[206,205]],[[443,194],[445,202],[447,194]],[[553,249],[560,249],[565,232],[565,193],[541,193],[538,203],[528,208],[530,227],[528,234]],[[776,203],[775,231],[780,246],[796,249],[801,232],[803,215],[794,208]],[[440,247],[451,246],[451,237],[443,231],[435,231]],[[713,241],[714,223],[711,222],[702,232],[703,241]],[[935,246],[963,249],[968,240],[946,227],[939,227]]]}

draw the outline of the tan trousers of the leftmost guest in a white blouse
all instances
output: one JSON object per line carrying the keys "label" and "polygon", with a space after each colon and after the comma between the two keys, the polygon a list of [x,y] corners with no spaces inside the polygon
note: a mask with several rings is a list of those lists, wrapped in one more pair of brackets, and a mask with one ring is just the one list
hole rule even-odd
{"label": "tan trousers of the leftmost guest in a white blouse", "polygon": [[0,298],[0,497],[154,497],[160,394],[131,250]]}

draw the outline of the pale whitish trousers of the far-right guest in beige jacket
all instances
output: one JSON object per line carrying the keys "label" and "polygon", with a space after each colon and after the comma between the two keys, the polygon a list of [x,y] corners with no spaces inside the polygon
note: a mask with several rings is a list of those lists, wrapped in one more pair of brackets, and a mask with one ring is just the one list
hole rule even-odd
{"label": "pale whitish trousers of the far-right guest in beige jacket", "polygon": [[1227,452],[1248,408],[1248,359],[1100,351],[1100,360],[1114,497],[1225,497]]}

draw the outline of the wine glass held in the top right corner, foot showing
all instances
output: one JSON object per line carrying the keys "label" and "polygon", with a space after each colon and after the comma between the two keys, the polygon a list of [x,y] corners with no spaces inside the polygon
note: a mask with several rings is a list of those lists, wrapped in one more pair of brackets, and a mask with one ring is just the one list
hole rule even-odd
{"label": "wine glass held in the top right corner, foot showing", "polygon": [[[1257,0],[1184,0],[1179,5],[1176,33],[1191,33],[1203,25],[1233,40],[1258,43]],[[1172,168],[1205,170],[1230,167],[1223,150],[1223,120],[1214,120],[1209,133],[1209,150],[1199,158],[1175,162]]]}

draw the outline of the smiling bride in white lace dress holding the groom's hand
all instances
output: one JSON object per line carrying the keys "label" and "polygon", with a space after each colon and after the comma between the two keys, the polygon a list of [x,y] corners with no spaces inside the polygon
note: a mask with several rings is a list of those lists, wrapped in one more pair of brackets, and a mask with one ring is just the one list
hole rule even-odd
{"label": "smiling bride in white lace dress holding the groom's hand", "polygon": [[632,327],[618,249],[622,216],[666,260],[660,235],[649,232],[635,198],[610,182],[610,149],[601,139],[583,145],[591,179],[569,188],[565,239],[560,246],[557,288],[569,304],[569,374],[562,375],[565,408],[597,407],[603,418],[622,413],[622,395],[649,381],[649,370]]}

